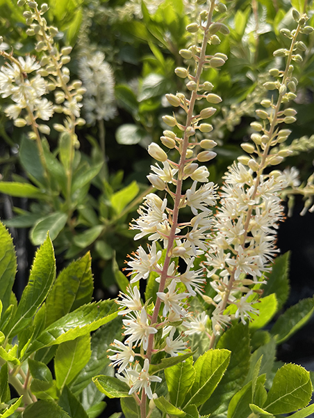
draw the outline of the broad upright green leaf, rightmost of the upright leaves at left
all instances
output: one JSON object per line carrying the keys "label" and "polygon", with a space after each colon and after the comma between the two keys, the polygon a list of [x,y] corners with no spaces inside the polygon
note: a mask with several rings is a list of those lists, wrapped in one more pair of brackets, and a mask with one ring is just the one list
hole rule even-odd
{"label": "broad upright green leaf, rightmost of the upright leaves at left", "polygon": [[92,300],[91,261],[88,252],[58,274],[46,301],[46,326]]}

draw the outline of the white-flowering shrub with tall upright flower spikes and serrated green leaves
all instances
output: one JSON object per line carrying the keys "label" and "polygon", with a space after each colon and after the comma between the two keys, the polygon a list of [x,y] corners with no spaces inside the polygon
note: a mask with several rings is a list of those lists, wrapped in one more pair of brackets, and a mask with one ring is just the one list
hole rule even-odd
{"label": "white-flowering shrub with tall upright flower spikes and serrated green leaves", "polygon": [[[75,201],[76,196],[86,186],[85,201],[92,178],[102,175],[106,180],[108,171],[100,174],[103,162],[88,169],[75,160],[76,127],[85,123],[80,117],[85,92],[79,80],[70,80],[65,67],[71,47],[59,52],[54,45],[58,31],[42,17],[48,10],[46,3],[38,8],[35,1],[19,0],[20,6],[25,3],[31,9],[24,12],[30,25],[28,35],[39,36],[36,49],[42,52],[41,61],[29,56],[16,59],[3,50],[7,63],[1,68],[0,88],[2,97],[14,102],[6,107],[8,117],[17,127],[32,127],[28,137],[37,144],[43,183],[36,187],[1,182],[0,189],[37,199],[44,199],[43,186],[50,190],[47,202],[58,211],[33,229],[33,235],[39,233],[42,241],[47,225],[55,238],[65,224],[75,229],[72,215],[81,203]],[[306,13],[292,8],[295,27],[281,29],[290,45],[274,51],[282,60],[277,62],[279,68],[270,69],[272,79],[263,82],[261,107],[251,123],[251,141],[241,144],[246,155],[229,167],[219,189],[209,181],[208,168],[201,165],[213,162],[217,155],[217,138],[208,118],[222,102],[204,72],[220,70],[228,59],[222,52],[210,51],[229,34],[222,22],[226,12],[224,3],[210,0],[201,8],[197,22],[186,26],[189,43],[179,50],[184,64],[174,72],[185,80],[187,93],[166,95],[177,111],[163,116],[167,125],[160,137],[163,148],[156,142],[148,146],[149,155],[156,160],[147,176],[152,187],[144,195],[138,219],[131,222],[134,239],[147,238],[150,244],[147,249],[140,245],[128,256],[124,270],[129,280],[117,272],[121,289],[117,300],[91,302],[88,254],[55,280],[48,237],[35,256],[28,286],[17,304],[12,293],[15,251],[1,225],[2,417],[97,417],[104,409],[104,396],[121,398],[126,418],[258,418],[291,412],[295,412],[292,417],[301,418],[314,412],[313,405],[308,405],[313,390],[310,373],[296,364],[274,361],[276,344],[311,318],[313,298],[301,300],[279,316],[269,331],[263,330],[286,302],[289,291],[288,254],[274,259],[276,229],[284,218],[281,196],[299,191],[306,202],[312,199],[311,179],[298,189],[295,169],[273,167],[301,143],[286,145],[291,134],[286,125],[296,121],[297,111],[290,104],[297,98],[294,70],[306,51],[299,36],[314,29],[307,24]],[[94,111],[88,116],[90,123],[115,114],[114,105],[107,107],[112,89],[111,97],[104,98],[104,77],[99,78],[101,72],[111,78],[107,65],[101,53],[80,61],[81,77],[89,86],[85,111]],[[97,89],[92,80],[97,81]],[[51,91],[54,102],[42,97]],[[261,94],[261,86],[258,92],[255,98]],[[60,161],[53,158],[41,137],[49,135],[49,125],[38,121],[49,121],[53,112],[65,115],[63,123],[53,125],[60,132]],[[101,144],[104,157],[104,137]],[[66,183],[63,178],[58,181],[61,171]],[[56,192],[63,194],[62,200]],[[124,205],[123,210],[125,201],[131,201],[126,194],[135,197],[132,188],[117,192],[112,204]],[[103,229],[95,225],[84,237],[95,239]],[[74,245],[79,247],[79,243],[74,237]],[[103,325],[91,341],[90,332]],[[47,366],[51,359],[55,376]],[[19,398],[10,400],[8,384]]]}

